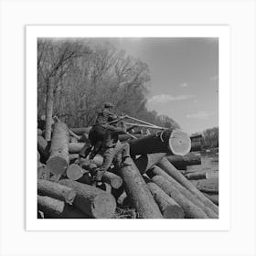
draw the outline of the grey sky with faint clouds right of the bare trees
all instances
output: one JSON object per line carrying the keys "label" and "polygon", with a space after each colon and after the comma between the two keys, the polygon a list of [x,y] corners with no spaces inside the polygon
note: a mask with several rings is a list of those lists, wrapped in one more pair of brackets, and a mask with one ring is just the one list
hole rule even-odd
{"label": "grey sky with faint clouds right of the bare trees", "polygon": [[219,41],[215,37],[108,38],[148,64],[147,108],[187,133],[219,125]]}

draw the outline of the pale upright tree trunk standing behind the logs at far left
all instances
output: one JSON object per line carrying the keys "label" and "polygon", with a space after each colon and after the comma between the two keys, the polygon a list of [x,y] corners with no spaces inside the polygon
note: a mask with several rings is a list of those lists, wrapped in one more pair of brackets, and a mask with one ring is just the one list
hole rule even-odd
{"label": "pale upright tree trunk standing behind the logs at far left", "polygon": [[46,129],[45,139],[50,141],[51,138],[51,125],[52,125],[52,112],[54,103],[54,84],[50,79],[47,80],[47,102],[46,102]]}

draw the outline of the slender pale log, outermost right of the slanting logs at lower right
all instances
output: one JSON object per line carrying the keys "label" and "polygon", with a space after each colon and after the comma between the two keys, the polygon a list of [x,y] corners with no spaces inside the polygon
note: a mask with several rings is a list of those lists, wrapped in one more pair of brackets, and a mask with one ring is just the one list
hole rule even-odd
{"label": "slender pale log, outermost right of the slanting logs at lower right", "polygon": [[215,213],[219,213],[219,208],[212,203],[207,197],[205,197],[198,189],[195,187],[185,176],[183,176],[174,165],[172,165],[165,157],[157,164],[162,168],[165,173],[169,176],[172,176],[179,182],[181,185],[186,187],[190,192],[196,195],[206,207],[211,208]]}

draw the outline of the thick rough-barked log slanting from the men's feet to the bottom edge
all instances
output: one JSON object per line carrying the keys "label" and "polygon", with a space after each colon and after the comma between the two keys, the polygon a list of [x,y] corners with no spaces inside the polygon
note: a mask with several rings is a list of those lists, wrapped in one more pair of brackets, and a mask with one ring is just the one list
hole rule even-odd
{"label": "thick rough-barked log slanting from the men's feet to the bottom edge", "polygon": [[131,159],[131,165],[119,170],[127,196],[136,209],[139,219],[163,219],[160,209],[151,195],[143,176]]}

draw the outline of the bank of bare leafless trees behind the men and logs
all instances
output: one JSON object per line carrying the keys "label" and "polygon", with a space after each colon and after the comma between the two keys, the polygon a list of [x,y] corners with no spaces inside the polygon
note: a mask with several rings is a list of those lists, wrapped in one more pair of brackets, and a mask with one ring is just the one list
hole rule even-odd
{"label": "bank of bare leafless trees behind the men and logs", "polygon": [[112,101],[119,114],[179,128],[172,118],[147,110],[149,88],[148,65],[110,43],[37,39],[37,114],[46,116],[46,126],[54,115],[69,127],[90,126],[103,102]]}

